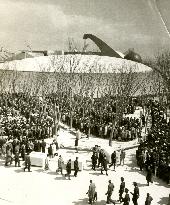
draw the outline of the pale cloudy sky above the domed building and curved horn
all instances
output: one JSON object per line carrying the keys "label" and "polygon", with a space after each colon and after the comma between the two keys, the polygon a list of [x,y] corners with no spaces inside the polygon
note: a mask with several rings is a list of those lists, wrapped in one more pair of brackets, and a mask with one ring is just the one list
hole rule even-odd
{"label": "pale cloudy sky above the domed building and curved horn", "polygon": [[[0,0],[0,46],[11,51],[77,48],[92,33],[117,51],[143,57],[170,48],[170,0]],[[89,49],[95,49],[94,43]]]}

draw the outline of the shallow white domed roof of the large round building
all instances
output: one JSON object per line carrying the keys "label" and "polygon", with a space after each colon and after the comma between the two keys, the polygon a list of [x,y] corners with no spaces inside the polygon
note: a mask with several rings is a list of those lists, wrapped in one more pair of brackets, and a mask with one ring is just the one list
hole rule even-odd
{"label": "shallow white domed roof of the large round building", "polygon": [[[18,55],[18,58],[22,58]],[[35,71],[35,72],[65,72],[65,73],[119,73],[119,72],[149,72],[152,69],[134,61],[96,55],[51,55],[26,58],[6,62],[0,69]]]}

